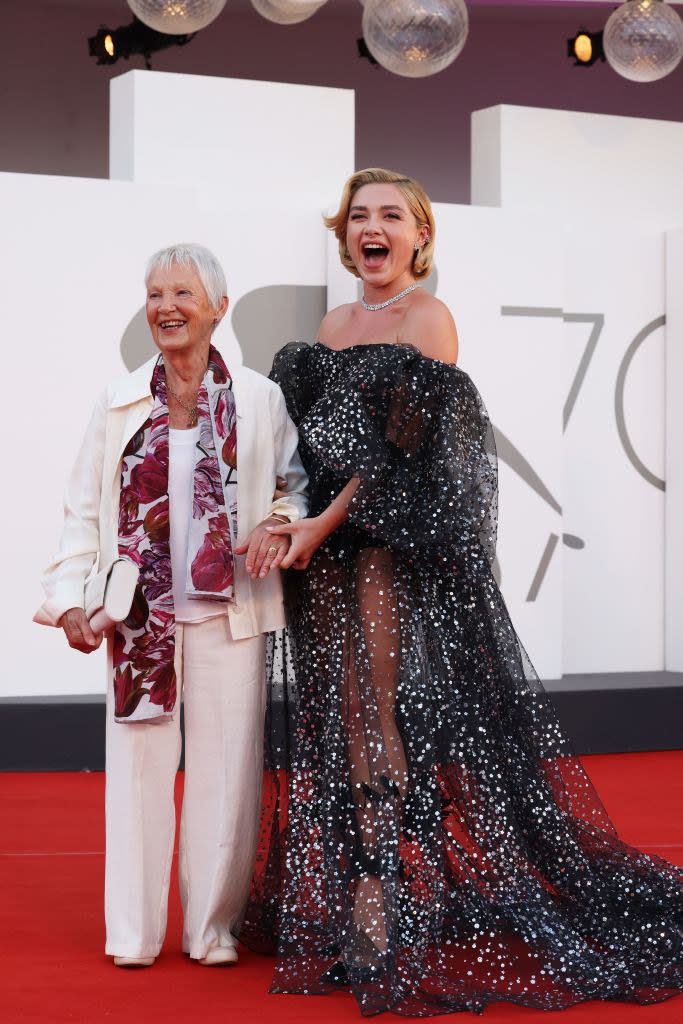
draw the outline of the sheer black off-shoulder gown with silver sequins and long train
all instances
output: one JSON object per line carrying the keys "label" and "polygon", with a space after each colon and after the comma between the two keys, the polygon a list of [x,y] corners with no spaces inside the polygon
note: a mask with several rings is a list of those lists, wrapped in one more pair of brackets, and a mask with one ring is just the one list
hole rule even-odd
{"label": "sheer black off-shoulder gown with silver sequins and long train", "polygon": [[675,994],[683,872],[620,841],[510,623],[470,379],[410,346],[319,343],[272,377],[310,514],[359,485],[288,573],[271,642],[241,935],[276,950],[271,990],[331,991],[341,958],[365,1015]]}

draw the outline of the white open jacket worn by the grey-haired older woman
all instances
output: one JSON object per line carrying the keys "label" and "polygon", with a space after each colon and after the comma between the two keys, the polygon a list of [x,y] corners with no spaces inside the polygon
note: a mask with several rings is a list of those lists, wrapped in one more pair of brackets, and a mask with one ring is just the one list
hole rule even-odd
{"label": "white open jacket worn by the grey-haired older woman", "polygon": [[[118,555],[121,459],[154,406],[150,390],[158,356],[115,381],[100,394],[65,493],[65,526],[43,575],[46,600],[36,621],[56,626],[69,608],[83,607],[83,588],[96,559]],[[306,515],[308,478],[297,452],[297,430],[272,381],[246,367],[230,370],[238,429],[238,545],[270,513],[291,521]],[[275,477],[286,498],[273,501]],[[236,600],[228,605],[236,640],[285,625],[279,570],[252,580],[245,556],[234,559]]]}

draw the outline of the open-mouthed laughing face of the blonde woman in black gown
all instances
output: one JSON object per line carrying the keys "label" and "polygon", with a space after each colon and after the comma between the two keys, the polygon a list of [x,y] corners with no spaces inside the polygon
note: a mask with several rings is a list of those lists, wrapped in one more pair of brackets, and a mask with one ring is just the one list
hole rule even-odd
{"label": "open-mouthed laughing face of the blonde woman in black gown", "polygon": [[395,185],[362,185],[351,200],[346,245],[362,280],[376,288],[405,275],[413,280],[415,247],[427,233]]}

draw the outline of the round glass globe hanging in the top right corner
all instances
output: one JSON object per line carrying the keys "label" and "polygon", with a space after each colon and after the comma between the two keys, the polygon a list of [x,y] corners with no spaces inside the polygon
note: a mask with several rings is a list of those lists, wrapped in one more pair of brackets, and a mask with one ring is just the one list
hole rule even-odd
{"label": "round glass globe hanging in the top right corner", "polygon": [[683,22],[663,0],[626,0],[605,25],[607,60],[632,82],[656,82],[683,56]]}

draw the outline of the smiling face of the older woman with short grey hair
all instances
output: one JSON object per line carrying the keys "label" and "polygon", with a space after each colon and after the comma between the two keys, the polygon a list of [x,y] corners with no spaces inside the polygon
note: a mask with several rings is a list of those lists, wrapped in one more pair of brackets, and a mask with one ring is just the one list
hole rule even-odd
{"label": "smiling face of the older woman with short grey hair", "polygon": [[224,310],[215,309],[199,273],[191,266],[157,266],[147,280],[147,324],[162,352],[188,351],[211,341],[214,324]]}

